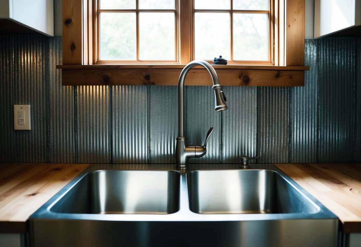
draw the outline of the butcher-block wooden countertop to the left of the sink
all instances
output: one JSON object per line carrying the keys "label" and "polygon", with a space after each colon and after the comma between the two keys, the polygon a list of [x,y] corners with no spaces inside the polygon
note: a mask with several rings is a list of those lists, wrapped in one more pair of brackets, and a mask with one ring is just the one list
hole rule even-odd
{"label": "butcher-block wooden countertop to the left of the sink", "polygon": [[0,233],[25,233],[29,216],[88,166],[0,163]]}

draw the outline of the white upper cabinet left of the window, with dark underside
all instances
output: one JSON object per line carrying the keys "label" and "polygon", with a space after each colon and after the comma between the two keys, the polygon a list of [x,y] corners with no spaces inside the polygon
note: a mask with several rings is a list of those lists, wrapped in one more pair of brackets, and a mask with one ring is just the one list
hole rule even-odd
{"label": "white upper cabinet left of the window, with dark underside", "polygon": [[54,36],[53,0],[0,1],[0,33]]}

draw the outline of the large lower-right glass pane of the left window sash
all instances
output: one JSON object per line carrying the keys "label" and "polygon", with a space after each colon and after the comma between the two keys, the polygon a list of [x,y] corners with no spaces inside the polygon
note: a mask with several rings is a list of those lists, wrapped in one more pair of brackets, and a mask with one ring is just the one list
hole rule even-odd
{"label": "large lower-right glass pane of the left window sash", "polygon": [[139,13],[139,59],[175,60],[174,13]]}

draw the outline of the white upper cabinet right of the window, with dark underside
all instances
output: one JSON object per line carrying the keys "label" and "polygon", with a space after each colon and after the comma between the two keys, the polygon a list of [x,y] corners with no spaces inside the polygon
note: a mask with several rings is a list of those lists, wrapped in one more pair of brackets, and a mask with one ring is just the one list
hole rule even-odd
{"label": "white upper cabinet right of the window, with dark underside", "polygon": [[361,0],[315,0],[314,38],[360,36]]}

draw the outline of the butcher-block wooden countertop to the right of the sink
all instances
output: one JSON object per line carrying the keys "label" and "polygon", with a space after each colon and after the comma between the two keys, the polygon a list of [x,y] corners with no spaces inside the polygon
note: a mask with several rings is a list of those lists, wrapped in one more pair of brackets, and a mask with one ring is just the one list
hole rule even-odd
{"label": "butcher-block wooden countertop to the right of the sink", "polygon": [[275,166],[337,215],[344,233],[361,233],[361,163]]}

